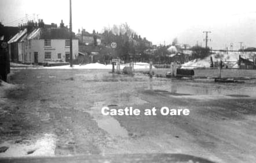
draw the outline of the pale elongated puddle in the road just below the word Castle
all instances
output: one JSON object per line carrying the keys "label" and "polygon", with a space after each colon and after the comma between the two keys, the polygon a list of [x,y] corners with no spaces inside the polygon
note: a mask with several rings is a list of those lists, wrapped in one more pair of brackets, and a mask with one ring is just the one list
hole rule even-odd
{"label": "pale elongated puddle in the road just below the word Castle", "polygon": [[97,122],[98,127],[105,130],[110,135],[128,137],[128,131],[121,127],[115,118],[109,115],[101,114],[101,108],[104,106],[105,105],[103,102],[96,102],[94,107],[91,107],[90,110],[86,110],[85,112],[93,116],[93,119]]}

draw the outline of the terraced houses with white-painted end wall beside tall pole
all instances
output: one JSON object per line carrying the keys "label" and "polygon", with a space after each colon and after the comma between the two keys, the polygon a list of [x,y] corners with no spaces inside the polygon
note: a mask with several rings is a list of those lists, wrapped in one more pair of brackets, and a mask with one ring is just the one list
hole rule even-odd
{"label": "terraced houses with white-painted end wall beside tall pole", "polygon": [[[69,62],[70,60],[70,32],[61,21],[56,24],[45,25],[43,21],[28,22],[28,25],[9,40],[9,51],[13,62],[26,64],[48,64]],[[73,33],[73,59],[78,58],[78,39]]]}

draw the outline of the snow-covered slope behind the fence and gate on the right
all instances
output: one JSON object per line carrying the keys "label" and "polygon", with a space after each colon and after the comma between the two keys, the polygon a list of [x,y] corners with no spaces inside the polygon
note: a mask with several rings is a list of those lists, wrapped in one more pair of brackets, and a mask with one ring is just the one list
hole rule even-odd
{"label": "snow-covered slope behind the fence and gate on the right", "polygon": [[213,62],[220,62],[221,60],[225,62],[233,62],[233,63],[228,63],[232,68],[237,68],[237,61],[239,59],[239,55],[241,55],[242,58],[245,59],[251,59],[256,56],[256,53],[253,52],[248,52],[241,54],[240,52],[229,52],[228,54],[226,52],[216,52],[215,54],[212,54],[204,59],[195,59],[192,61],[189,61],[187,63],[184,63],[182,65],[182,68],[196,68],[196,67],[210,67],[210,61],[211,61],[211,56],[213,59]]}

